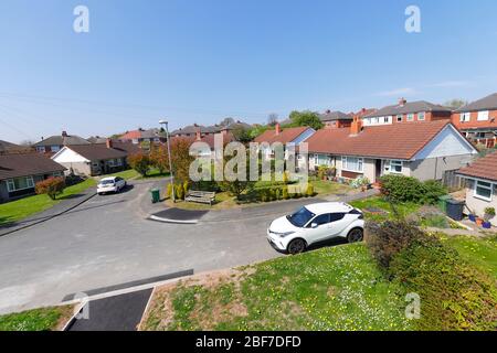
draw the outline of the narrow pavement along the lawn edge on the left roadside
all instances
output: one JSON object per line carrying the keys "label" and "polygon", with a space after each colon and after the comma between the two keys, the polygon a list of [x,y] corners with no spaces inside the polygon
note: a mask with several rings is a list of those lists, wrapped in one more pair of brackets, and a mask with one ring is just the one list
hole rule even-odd
{"label": "narrow pavement along the lawn edge on the left roadside", "polygon": [[[52,220],[56,216],[60,216],[81,204],[85,203],[89,199],[96,195],[96,189],[95,186],[89,188],[78,194],[72,195],[71,197],[61,201],[60,203],[55,204],[53,207],[45,210],[43,212],[36,213],[32,216],[29,216],[28,218],[24,218],[22,221],[18,221],[14,224],[8,225],[8,226],[0,226],[0,236],[8,235],[28,227],[31,227],[33,225],[46,222],[49,220]],[[49,196],[46,196],[49,197]]]}

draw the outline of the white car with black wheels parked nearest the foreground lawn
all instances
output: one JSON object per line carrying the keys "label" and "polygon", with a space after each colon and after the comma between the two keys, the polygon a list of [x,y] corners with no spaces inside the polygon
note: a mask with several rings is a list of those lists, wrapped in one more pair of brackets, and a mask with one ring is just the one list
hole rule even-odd
{"label": "white car with black wheels parked nearest the foreground lawn", "polygon": [[273,221],[267,229],[269,244],[292,255],[309,245],[334,237],[349,243],[361,242],[364,217],[360,210],[342,202],[316,203],[302,207],[292,215]]}

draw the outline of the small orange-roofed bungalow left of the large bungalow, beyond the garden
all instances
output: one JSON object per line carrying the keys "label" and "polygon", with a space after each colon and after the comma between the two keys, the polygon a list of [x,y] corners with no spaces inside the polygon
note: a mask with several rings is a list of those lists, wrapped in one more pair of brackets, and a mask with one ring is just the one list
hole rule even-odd
{"label": "small orange-roofed bungalow left of the large bungalow, beyond the garden", "polygon": [[[282,129],[279,124],[276,124],[274,130],[264,131],[254,139],[254,142],[267,143],[268,146],[262,146],[262,153],[266,159],[271,159],[274,157],[273,143],[279,142],[284,146],[295,145],[295,147],[297,148],[302,142],[306,141],[314,133],[316,133],[316,130],[306,126]],[[288,158],[286,150],[285,158]]]}

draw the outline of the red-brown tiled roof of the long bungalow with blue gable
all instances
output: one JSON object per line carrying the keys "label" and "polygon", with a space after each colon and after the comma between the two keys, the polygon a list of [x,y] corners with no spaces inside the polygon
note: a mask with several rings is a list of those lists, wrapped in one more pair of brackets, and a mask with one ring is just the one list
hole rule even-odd
{"label": "red-brown tiled roof of the long bungalow with blue gable", "polygon": [[306,142],[309,152],[409,160],[448,124],[440,120],[366,127],[356,136],[350,135],[350,128],[322,129]]}

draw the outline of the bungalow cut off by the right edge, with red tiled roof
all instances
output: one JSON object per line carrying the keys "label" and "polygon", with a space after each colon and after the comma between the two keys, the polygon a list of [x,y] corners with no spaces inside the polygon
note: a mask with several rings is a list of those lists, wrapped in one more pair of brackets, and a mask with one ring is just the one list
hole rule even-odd
{"label": "bungalow cut off by the right edge, with red tiled roof", "polygon": [[[457,172],[466,179],[466,206],[478,216],[484,216],[485,208],[497,210],[497,152],[476,160],[473,164]],[[497,217],[490,220],[497,226]]]}

